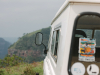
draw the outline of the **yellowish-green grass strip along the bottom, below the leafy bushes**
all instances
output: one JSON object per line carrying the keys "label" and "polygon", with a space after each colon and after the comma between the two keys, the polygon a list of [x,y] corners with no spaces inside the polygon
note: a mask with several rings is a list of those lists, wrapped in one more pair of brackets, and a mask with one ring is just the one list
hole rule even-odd
{"label": "yellowish-green grass strip along the bottom, below the leafy bushes", "polygon": [[0,75],[43,75],[43,61],[31,64],[20,63],[13,67],[0,68]]}

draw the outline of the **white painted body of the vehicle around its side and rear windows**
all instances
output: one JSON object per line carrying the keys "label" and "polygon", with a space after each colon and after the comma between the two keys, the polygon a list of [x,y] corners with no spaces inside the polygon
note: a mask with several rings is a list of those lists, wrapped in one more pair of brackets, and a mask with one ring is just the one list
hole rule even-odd
{"label": "white painted body of the vehicle around its side and rear windows", "polygon": [[[69,0],[69,1],[75,1],[75,0]],[[52,34],[55,27],[57,25],[61,26],[60,40],[58,44],[58,59],[57,62],[53,60],[53,57],[51,55],[51,46],[50,46],[47,56],[44,60],[44,72],[45,72],[44,75],[69,75],[68,62],[69,62],[72,31],[75,19],[78,15],[80,15],[83,12],[100,13],[99,10],[100,4],[93,3],[94,0],[91,0],[92,3],[87,2],[90,0],[87,1],[85,0],[87,3],[79,3],[77,1],[80,0],[76,0],[76,2],[72,3],[67,3],[67,6],[65,6],[66,8],[63,6],[64,9],[63,8],[61,8],[63,10],[60,9],[60,11],[62,12],[59,11],[51,23],[52,33],[50,39],[52,39]],[[49,43],[51,45],[51,41]],[[48,72],[48,74],[46,72]]]}

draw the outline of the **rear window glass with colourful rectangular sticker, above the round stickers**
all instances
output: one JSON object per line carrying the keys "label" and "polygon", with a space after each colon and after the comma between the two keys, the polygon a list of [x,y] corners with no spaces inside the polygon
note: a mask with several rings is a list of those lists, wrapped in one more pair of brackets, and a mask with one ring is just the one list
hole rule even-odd
{"label": "rear window glass with colourful rectangular sticker, above the round stickers", "polygon": [[[85,69],[91,64],[100,68],[100,17],[82,15],[76,25],[71,46],[70,67],[72,68],[75,63],[79,62],[84,65]],[[82,75],[89,74],[85,71]]]}

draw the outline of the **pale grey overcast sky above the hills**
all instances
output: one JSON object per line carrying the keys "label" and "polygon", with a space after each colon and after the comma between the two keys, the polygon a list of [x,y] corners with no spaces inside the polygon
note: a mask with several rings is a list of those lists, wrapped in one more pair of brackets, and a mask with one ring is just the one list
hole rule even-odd
{"label": "pale grey overcast sky above the hills", "polygon": [[49,27],[65,0],[0,0],[0,37]]}

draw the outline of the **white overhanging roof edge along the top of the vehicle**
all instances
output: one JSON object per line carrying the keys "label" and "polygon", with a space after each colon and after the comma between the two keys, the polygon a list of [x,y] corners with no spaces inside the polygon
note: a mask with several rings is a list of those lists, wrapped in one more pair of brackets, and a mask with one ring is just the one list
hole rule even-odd
{"label": "white overhanging roof edge along the top of the vehicle", "polygon": [[68,6],[69,3],[100,3],[100,0],[66,0],[56,13],[55,17],[51,22],[51,25],[58,18],[58,16],[64,11],[64,9]]}

